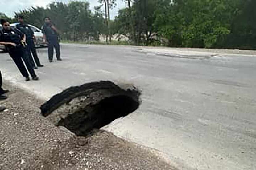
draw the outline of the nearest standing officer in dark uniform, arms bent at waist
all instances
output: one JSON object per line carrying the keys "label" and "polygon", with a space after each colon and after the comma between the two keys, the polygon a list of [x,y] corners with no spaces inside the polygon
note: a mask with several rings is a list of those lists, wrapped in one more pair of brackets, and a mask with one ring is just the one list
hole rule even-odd
{"label": "nearest standing officer in dark uniform, arms bent at waist", "polygon": [[[1,24],[3,29],[0,35],[0,44],[6,45],[7,50],[17,65],[19,71],[23,77],[26,77],[26,81],[30,80],[27,70],[29,71],[33,80],[39,80],[27,56],[26,35],[20,32],[18,29],[11,29],[10,23],[4,19],[1,19]],[[22,60],[27,66],[27,69]]]}

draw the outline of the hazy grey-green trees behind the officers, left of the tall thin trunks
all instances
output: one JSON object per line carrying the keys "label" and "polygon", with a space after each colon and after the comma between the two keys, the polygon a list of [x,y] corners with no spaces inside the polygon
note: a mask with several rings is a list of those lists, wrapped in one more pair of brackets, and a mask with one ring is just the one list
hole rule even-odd
{"label": "hazy grey-green trees behind the officers, left of the tall thin trunks", "polygon": [[31,7],[16,13],[24,15],[25,21],[39,28],[43,25],[43,18],[48,16],[61,32],[61,37],[66,40],[84,41],[99,39],[99,34],[104,32],[103,16],[100,10],[92,13],[88,2],[71,1],[67,4],[52,2],[43,7]]}

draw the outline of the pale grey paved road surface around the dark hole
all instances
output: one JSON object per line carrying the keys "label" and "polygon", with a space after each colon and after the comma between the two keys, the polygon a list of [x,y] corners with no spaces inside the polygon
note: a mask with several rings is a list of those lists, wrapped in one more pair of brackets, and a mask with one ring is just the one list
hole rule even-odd
{"label": "pale grey paved road surface around the dark hole", "polygon": [[53,63],[47,49],[38,53],[40,81],[25,82],[1,53],[4,78],[45,98],[91,81],[134,84],[142,105],[106,130],[180,169],[256,169],[254,52],[63,44]]}

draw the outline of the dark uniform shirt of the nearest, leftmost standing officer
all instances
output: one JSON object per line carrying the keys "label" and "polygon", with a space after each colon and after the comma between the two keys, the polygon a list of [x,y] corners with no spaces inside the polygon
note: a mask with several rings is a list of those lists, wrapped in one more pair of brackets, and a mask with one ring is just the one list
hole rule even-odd
{"label": "dark uniform shirt of the nearest, leftmost standing officer", "polygon": [[[3,29],[0,34],[0,42],[12,42],[16,45],[20,45],[24,34],[18,29]],[[12,45],[7,45],[7,48],[13,48]]]}

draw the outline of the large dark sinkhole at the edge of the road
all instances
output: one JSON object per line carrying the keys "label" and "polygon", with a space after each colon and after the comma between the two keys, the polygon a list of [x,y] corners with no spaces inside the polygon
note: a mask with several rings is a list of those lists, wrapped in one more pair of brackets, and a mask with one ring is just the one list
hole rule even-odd
{"label": "large dark sinkhole at the edge of the road", "polygon": [[138,109],[140,94],[131,85],[121,88],[110,81],[92,82],[64,90],[40,109],[56,126],[64,126],[77,136],[87,136],[93,129]]}

